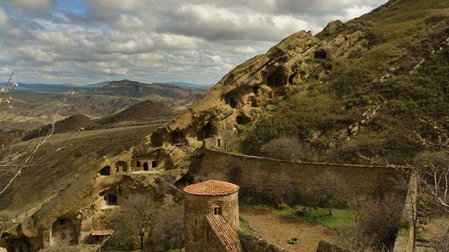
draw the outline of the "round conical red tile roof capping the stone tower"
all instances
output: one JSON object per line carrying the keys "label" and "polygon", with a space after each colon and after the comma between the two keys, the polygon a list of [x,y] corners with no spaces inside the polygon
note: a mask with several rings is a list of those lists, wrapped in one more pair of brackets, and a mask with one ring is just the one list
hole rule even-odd
{"label": "round conical red tile roof capping the stone tower", "polygon": [[186,186],[184,191],[192,195],[230,195],[238,192],[239,186],[225,181],[208,180]]}

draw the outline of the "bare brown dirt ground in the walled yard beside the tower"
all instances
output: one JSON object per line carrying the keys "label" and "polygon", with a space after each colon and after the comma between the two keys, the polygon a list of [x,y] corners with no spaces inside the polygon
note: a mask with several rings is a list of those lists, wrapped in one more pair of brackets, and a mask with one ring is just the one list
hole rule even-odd
{"label": "bare brown dirt ground in the walled yard beside the tower", "polygon": [[[240,214],[262,238],[289,251],[315,252],[322,239],[336,243],[342,240],[335,230],[323,225],[279,216],[263,209],[244,208]],[[293,237],[298,239],[297,244],[288,244],[287,240]]]}

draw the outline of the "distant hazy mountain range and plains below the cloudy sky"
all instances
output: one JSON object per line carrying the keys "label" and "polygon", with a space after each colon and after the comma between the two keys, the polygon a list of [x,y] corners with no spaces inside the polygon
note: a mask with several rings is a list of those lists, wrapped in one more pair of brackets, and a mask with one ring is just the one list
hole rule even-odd
{"label": "distant hazy mountain range and plains below the cloudy sky", "polygon": [[[69,96],[70,90],[75,90],[75,95]],[[8,130],[34,129],[49,123],[52,116],[65,118],[82,114],[89,118],[102,118],[142,101],[162,102],[173,109],[183,109],[201,98],[206,91],[203,88],[132,80],[105,81],[86,86],[19,83],[18,89],[13,91],[12,108],[8,112],[22,116]],[[162,111],[159,107],[151,107]]]}

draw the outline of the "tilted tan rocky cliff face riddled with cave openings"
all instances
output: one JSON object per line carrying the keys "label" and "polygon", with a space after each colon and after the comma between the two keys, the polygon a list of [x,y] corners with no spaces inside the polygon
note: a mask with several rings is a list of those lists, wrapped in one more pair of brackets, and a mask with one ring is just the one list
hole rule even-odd
{"label": "tilted tan rocky cliff face riddled with cave openings", "polygon": [[[203,140],[220,136],[215,145],[224,148],[241,125],[255,120],[310,78],[323,80],[333,60],[368,49],[370,41],[363,31],[340,34],[329,41],[319,38],[341,26],[340,21],[330,22],[317,36],[299,31],[266,54],[248,59],[166,127],[135,146],[134,155],[157,152],[166,169],[184,171],[189,164],[186,157],[201,148]],[[182,172],[175,174],[179,177]]]}

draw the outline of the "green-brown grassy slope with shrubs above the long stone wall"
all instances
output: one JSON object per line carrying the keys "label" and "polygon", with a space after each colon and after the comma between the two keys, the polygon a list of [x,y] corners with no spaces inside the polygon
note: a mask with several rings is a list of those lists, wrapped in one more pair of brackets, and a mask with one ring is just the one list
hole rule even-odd
{"label": "green-brown grassy slope with shrubs above the long stone wall", "polygon": [[[267,141],[293,135],[312,150],[304,160],[366,162],[361,155],[393,162],[412,159],[422,151],[413,141],[415,130],[431,134],[418,118],[449,116],[449,52],[431,54],[449,36],[448,8],[448,1],[396,1],[351,20],[335,34],[319,35],[330,39],[362,30],[375,45],[348,59],[333,59],[327,81],[311,78],[300,87],[302,92],[244,129],[240,151],[262,155],[260,147]],[[427,59],[424,67],[410,74],[422,58]],[[370,85],[391,66],[395,67],[393,78]],[[381,109],[372,123],[349,143],[337,141],[335,148],[329,148],[333,139],[375,104]],[[319,137],[311,141],[312,134]]]}

